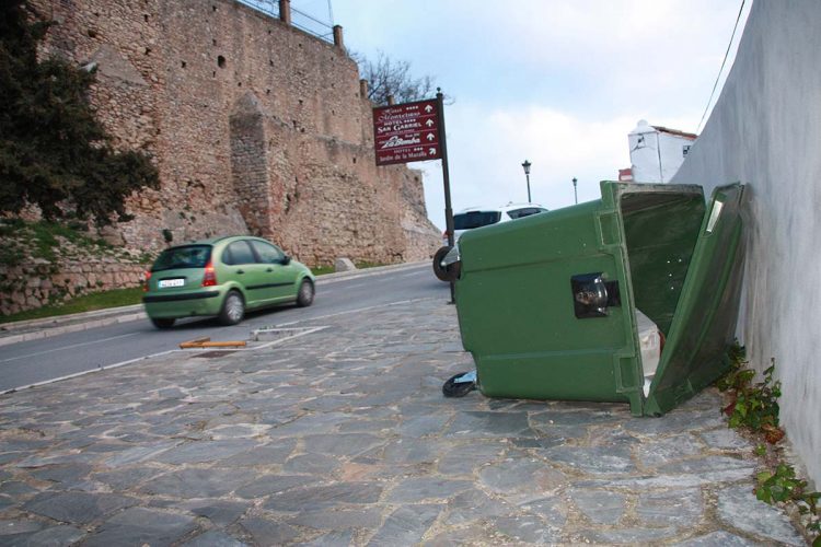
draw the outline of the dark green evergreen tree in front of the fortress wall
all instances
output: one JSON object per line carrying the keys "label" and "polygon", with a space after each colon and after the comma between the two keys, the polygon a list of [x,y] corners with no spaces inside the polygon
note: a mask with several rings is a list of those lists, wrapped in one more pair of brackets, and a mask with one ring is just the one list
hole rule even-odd
{"label": "dark green evergreen tree in front of the fortress wall", "polygon": [[0,212],[36,205],[47,220],[130,220],[125,199],[159,187],[157,168],[147,155],[112,146],[89,104],[93,71],[37,59],[50,25],[25,0],[0,7]]}

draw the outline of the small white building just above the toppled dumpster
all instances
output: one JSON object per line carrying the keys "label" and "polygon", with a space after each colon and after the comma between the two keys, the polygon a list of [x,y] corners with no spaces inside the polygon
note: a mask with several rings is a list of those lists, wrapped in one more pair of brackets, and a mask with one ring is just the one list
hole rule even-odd
{"label": "small white building just above the toppled dumpster", "polygon": [[[637,183],[669,183],[687,156],[696,136],[651,126],[639,120],[627,136],[632,179]],[[620,175],[620,179],[624,175]]]}

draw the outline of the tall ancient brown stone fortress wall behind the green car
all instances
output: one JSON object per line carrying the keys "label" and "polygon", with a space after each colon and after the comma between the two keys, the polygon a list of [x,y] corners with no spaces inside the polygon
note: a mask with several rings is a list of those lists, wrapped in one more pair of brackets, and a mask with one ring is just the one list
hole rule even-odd
{"label": "tall ancient brown stone fortress wall behind the green car", "polygon": [[46,53],[96,68],[92,102],[161,188],[108,234],[157,252],[254,233],[310,265],[429,257],[421,177],[373,162],[371,104],[344,48],[232,0],[32,0]]}

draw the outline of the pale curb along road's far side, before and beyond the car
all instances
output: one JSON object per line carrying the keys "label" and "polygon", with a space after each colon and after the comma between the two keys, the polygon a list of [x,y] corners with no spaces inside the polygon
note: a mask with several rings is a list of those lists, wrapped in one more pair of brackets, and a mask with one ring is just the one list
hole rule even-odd
{"label": "pale curb along road's far side, before and beyond the car", "polygon": [[[316,284],[332,284],[348,279],[375,276],[385,271],[401,271],[406,269],[418,268],[428,265],[428,260],[417,263],[396,264],[391,266],[378,266],[361,270],[339,271],[335,274],[325,274],[316,278]],[[51,336],[59,336],[68,333],[78,333],[90,328],[104,327],[117,323],[128,323],[131,321],[144,319],[148,315],[142,310],[142,304],[135,304],[123,307],[108,307],[106,310],[95,310],[93,312],[82,312],[71,315],[60,315],[43,319],[28,319],[15,323],[5,323],[0,325],[0,347],[11,344],[20,344],[31,340],[39,340]],[[12,334],[14,330],[31,329],[26,333]],[[5,334],[8,336],[5,336]]]}

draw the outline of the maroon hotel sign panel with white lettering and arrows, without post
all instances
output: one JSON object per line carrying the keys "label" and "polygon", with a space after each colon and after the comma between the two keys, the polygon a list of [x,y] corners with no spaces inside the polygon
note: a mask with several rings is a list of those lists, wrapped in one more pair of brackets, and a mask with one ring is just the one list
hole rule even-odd
{"label": "maroon hotel sign panel with white lettering and arrows, without post", "polygon": [[436,100],[373,108],[373,140],[377,165],[440,159]]}

